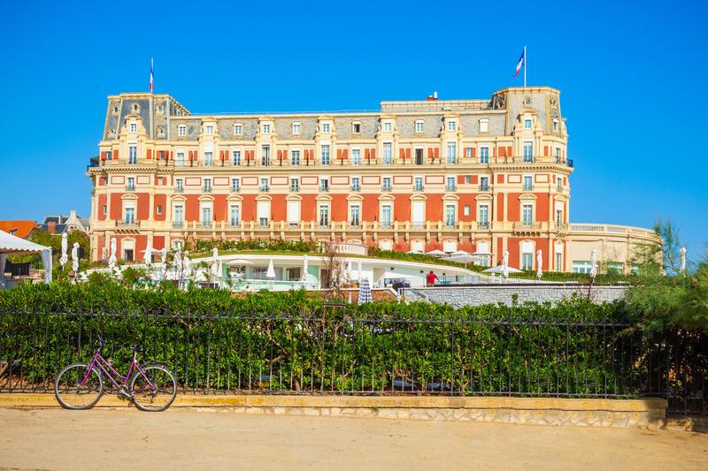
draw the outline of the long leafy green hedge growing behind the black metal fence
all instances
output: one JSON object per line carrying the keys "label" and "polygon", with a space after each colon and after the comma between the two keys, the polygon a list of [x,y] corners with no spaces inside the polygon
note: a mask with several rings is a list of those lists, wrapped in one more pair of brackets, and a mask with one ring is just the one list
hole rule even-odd
{"label": "long leafy green hedge growing behind the black metal fence", "polygon": [[430,392],[443,384],[466,394],[628,395],[626,322],[621,304],[581,299],[342,308],[305,292],[21,285],[0,292],[0,355],[40,388],[58,368],[88,359],[100,333],[116,364],[127,365],[130,345],[145,346],[143,358],[167,361],[185,389],[199,391],[371,392],[404,382]]}

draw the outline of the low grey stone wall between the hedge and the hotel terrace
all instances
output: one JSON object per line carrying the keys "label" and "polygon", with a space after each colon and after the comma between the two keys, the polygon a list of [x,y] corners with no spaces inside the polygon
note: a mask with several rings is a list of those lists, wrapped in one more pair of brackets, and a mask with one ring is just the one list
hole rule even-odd
{"label": "low grey stone wall between the hedge and the hotel terrace", "polygon": [[406,300],[423,300],[435,304],[480,306],[482,304],[512,304],[514,295],[519,304],[527,301],[558,302],[573,295],[587,297],[596,303],[612,302],[624,297],[625,286],[588,285],[476,285],[476,286],[435,286],[432,288],[412,288],[405,290]]}

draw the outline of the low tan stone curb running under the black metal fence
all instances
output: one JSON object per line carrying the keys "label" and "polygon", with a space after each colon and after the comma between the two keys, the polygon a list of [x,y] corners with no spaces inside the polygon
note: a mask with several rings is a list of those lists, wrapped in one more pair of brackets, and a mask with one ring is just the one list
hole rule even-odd
{"label": "low tan stone curb running under the black metal fence", "polygon": [[[98,407],[131,404],[104,395]],[[173,407],[212,407],[243,414],[355,416],[601,427],[662,426],[664,399],[558,399],[431,396],[179,395]],[[0,407],[58,407],[53,394],[0,394]]]}

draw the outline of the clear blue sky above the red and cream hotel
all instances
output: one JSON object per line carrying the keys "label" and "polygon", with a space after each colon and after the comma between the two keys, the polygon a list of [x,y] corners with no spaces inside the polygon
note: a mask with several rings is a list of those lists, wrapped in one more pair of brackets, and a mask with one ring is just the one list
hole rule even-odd
{"label": "clear blue sky above the red and cream hotel", "polygon": [[[106,96],[156,91],[193,112],[376,109],[381,100],[561,90],[571,220],[671,218],[708,240],[706,2],[5,2],[0,219],[89,213]],[[263,6],[261,6],[263,5]],[[293,7],[293,5],[296,5]]]}

